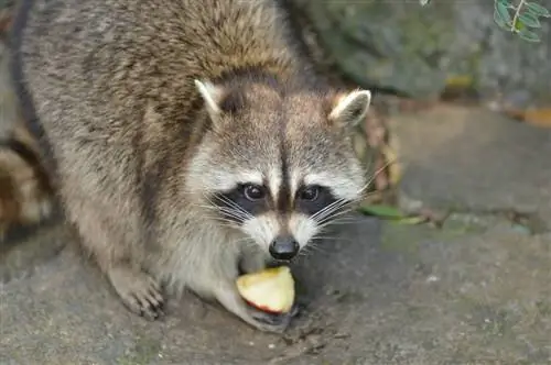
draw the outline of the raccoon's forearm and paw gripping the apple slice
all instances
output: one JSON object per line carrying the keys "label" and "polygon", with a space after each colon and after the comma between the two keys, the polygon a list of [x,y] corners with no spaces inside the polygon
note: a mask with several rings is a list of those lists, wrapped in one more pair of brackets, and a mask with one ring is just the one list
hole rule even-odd
{"label": "raccoon's forearm and paw gripping the apple slice", "polygon": [[228,284],[216,294],[217,300],[230,312],[248,324],[263,332],[282,333],[299,312],[296,306],[289,313],[272,314],[258,310],[245,302],[235,285]]}

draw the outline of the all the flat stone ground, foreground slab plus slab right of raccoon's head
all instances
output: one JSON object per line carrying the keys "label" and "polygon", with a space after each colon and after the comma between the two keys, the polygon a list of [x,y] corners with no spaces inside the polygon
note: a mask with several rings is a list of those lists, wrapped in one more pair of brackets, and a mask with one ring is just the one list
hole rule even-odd
{"label": "all the flat stone ground, foreground slab plus slab right of raccoon's head", "polygon": [[53,225],[0,253],[0,364],[551,364],[551,133],[447,106],[391,126],[403,207],[452,213],[339,226],[293,268],[285,335],[191,295],[134,317]]}

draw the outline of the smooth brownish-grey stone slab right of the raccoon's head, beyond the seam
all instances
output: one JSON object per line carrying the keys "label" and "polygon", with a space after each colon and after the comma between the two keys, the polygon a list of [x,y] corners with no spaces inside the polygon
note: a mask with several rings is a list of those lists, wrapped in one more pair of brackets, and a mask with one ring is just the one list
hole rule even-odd
{"label": "smooth brownish-grey stone slab right of the raccoon's head, beyond the seam", "polygon": [[436,208],[538,213],[551,221],[551,130],[478,109],[396,115],[401,189]]}

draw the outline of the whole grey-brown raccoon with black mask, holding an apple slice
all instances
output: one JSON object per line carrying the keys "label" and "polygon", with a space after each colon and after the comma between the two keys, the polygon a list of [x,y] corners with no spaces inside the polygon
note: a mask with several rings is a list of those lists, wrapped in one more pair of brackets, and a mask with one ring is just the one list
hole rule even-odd
{"label": "whole grey-brown raccoon with black mask, holding an apple slice", "polygon": [[22,0],[12,74],[68,222],[121,301],[188,289],[261,331],[240,273],[290,262],[361,199],[369,90],[313,71],[274,0]]}

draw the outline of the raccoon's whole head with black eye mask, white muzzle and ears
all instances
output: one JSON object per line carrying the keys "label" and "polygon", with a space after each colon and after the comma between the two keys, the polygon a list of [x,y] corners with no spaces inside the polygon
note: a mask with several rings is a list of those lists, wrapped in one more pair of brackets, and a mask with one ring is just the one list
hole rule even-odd
{"label": "raccoon's whole head with black eye mask, white muzzle and ears", "polygon": [[196,86],[212,124],[191,164],[188,189],[220,224],[289,261],[363,196],[367,181],[350,129],[365,118],[369,91]]}

